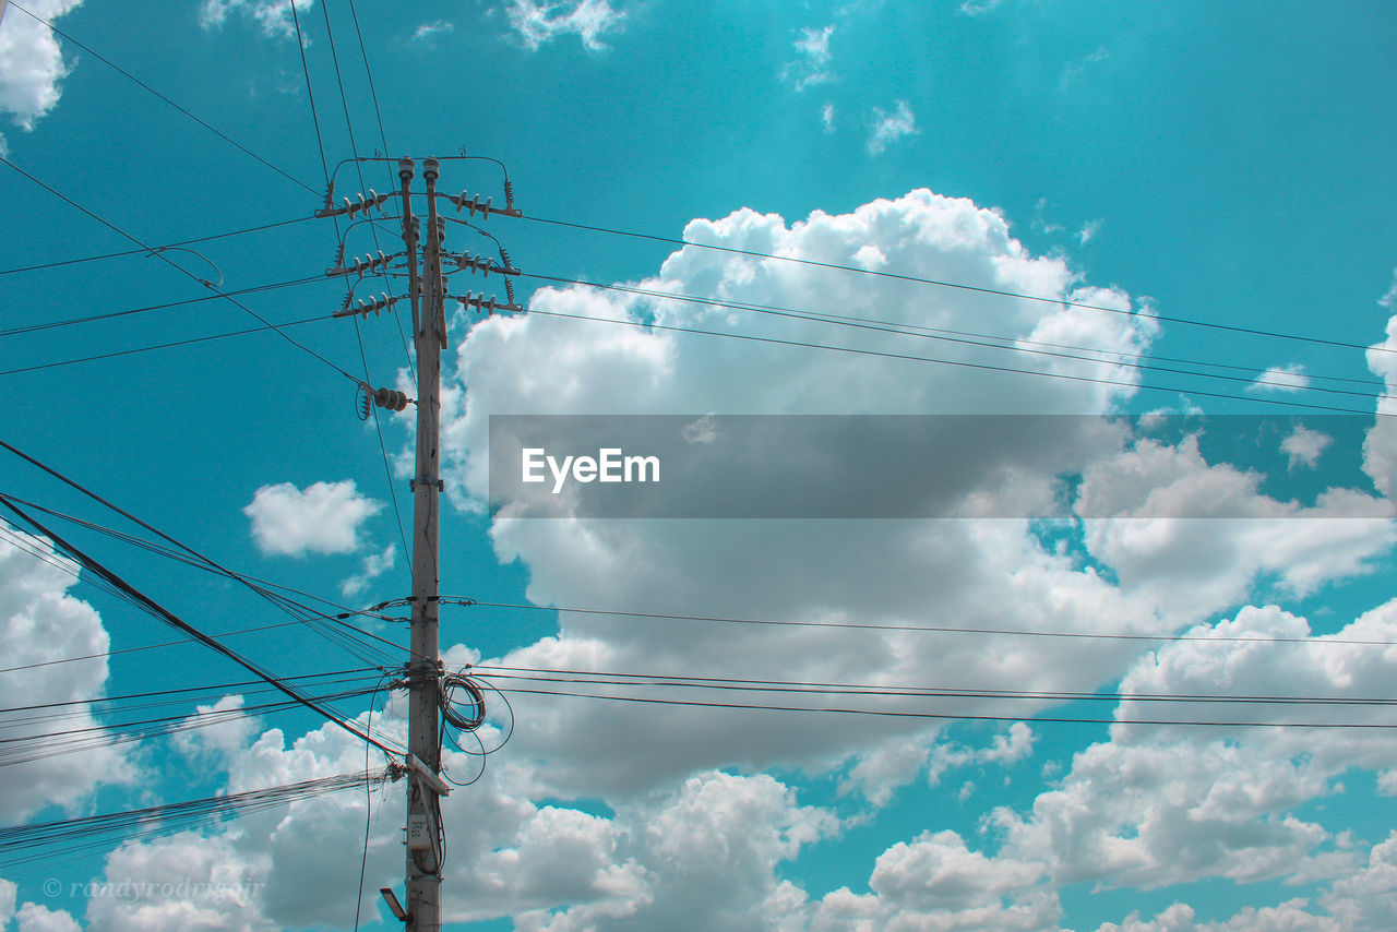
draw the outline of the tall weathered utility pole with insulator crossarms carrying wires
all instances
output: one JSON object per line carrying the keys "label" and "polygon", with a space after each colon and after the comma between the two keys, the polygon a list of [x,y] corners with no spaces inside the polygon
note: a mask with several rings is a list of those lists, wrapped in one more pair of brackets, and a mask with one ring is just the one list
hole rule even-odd
{"label": "tall weathered utility pole with insulator crossarms carrying wires", "polygon": [[[3,0],[0,0],[3,1]],[[465,158],[464,155],[461,158]],[[356,275],[359,282],[366,275],[390,274],[388,268],[398,257],[404,257],[408,274],[407,299],[412,306],[412,341],[416,355],[418,369],[418,449],[416,465],[412,478],[412,597],[408,602],[412,606],[412,629],[409,634],[408,662],[404,667],[405,678],[402,683],[408,689],[408,755],[404,760],[408,777],[408,812],[407,812],[407,890],[402,904],[391,889],[383,889],[383,897],[393,914],[405,922],[408,932],[436,932],[441,928],[441,868],[446,852],[446,827],[441,823],[441,796],[451,792],[450,784],[441,778],[441,724],[443,714],[448,722],[455,722],[460,728],[475,728],[485,720],[483,700],[479,701],[479,717],[468,724],[461,724],[460,715],[454,715],[450,708],[443,713],[443,676],[444,671],[439,660],[437,646],[437,612],[440,606],[440,517],[443,482],[440,475],[440,433],[441,433],[441,351],[446,348],[446,302],[457,300],[481,313],[493,314],[496,310],[521,313],[524,309],[514,303],[513,286],[509,275],[518,275],[509,254],[500,247],[502,264],[490,259],[471,256],[468,253],[451,254],[454,260],[453,271],[483,272],[486,277],[499,272],[504,278],[509,291],[509,300],[500,303],[495,296],[485,295],[447,295],[446,275],[441,272],[441,240],[444,238],[446,221],[437,214],[437,175],[439,162],[434,158],[422,162],[422,180],[426,186],[426,240],[422,239],[422,224],[412,211],[412,180],[415,162],[411,158],[398,161],[400,190],[395,196],[402,204],[402,243],[404,253],[377,257],[366,256],[346,263],[345,243],[339,243],[339,253],[335,267],[326,270],[327,275]],[[490,200],[483,203],[479,197],[471,197],[462,191],[457,197],[447,197],[457,212],[468,210],[474,218],[478,212],[482,219],[490,215],[520,217],[520,211],[513,205],[513,187],[506,180],[506,207],[493,207]],[[384,201],[394,194],[363,194],[358,200],[344,198],[344,207],[332,205],[332,187],[326,191],[326,205],[316,212],[316,217],[353,217],[381,208]],[[479,228],[476,228],[479,229]],[[420,270],[418,264],[418,250],[422,250]],[[352,285],[345,295],[344,306],[335,312],[335,317],[349,317],[356,314],[367,316],[393,307],[401,296],[391,298],[383,293],[381,298],[359,300],[351,305],[353,296]],[[400,391],[387,388],[373,390],[367,383],[360,383],[363,391],[363,416],[367,415],[370,404],[380,408],[402,411],[408,400]],[[450,682],[451,678],[448,678]]]}

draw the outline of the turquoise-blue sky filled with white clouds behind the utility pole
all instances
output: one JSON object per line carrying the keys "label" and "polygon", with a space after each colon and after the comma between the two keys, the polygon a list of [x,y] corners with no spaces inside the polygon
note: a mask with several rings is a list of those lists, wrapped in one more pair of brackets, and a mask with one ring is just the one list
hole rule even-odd
{"label": "turquoise-blue sky filled with white clouds behind the utility pole", "polygon": [[[1397,739],[1317,727],[1386,724],[1383,708],[1178,701],[1390,693],[1390,4],[317,0],[298,13],[305,71],[277,0],[140,14],[103,0],[10,4],[0,439],[247,576],[344,608],[407,595],[397,511],[411,530],[412,422],[384,415],[381,435],[362,423],[353,384],[415,397],[404,338],[387,316],[330,320],[344,298],[321,275],[337,229],[310,218],[321,147],[331,169],[355,151],[381,155],[384,140],[419,163],[464,147],[509,166],[525,218],[486,229],[525,272],[898,327],[527,275],[529,307],[602,320],[455,316],[441,591],[495,605],[444,606],[444,655],[975,693],[809,703],[961,717],[933,720],[595,701],[522,692],[576,685],[495,678],[517,727],[446,805],[448,928],[1397,925]],[[443,166],[444,190],[503,200],[493,163]],[[366,186],[393,183],[366,168]],[[346,168],[335,193],[359,184]],[[155,247],[282,221],[300,222],[163,259],[68,263],[136,249],[113,226]],[[447,235],[451,250],[489,246],[461,226]],[[373,249],[365,228],[349,235],[351,254]],[[467,278],[453,285],[481,288]],[[285,330],[300,348],[265,331],[186,342],[260,326],[219,299],[18,333],[203,298],[200,279],[285,285],[239,300],[275,323],[317,320]],[[108,354],[123,355],[88,359]],[[492,414],[698,426],[708,414],[1073,416],[1052,468],[1038,435],[1004,437],[1027,465],[977,475],[954,520],[624,521],[486,507]],[[1106,425],[1119,414],[1148,416]],[[0,493],[136,531],[3,463]],[[752,468],[799,482],[820,464]],[[1034,513],[1055,488],[1074,520],[1003,517]],[[377,679],[323,626],[265,627],[288,618],[236,583],[53,521],[196,626],[263,627],[228,643],[279,675]],[[64,746],[53,732],[94,729],[89,746],[0,766],[7,826],[365,767],[360,742],[309,713],[240,714],[268,701],[236,686],[244,671],[197,646],[151,647],[175,637],[71,569],[6,525],[0,660],[14,660],[0,667],[24,667],[0,672],[6,738],[49,735],[52,750]],[[400,623],[360,625],[405,640]],[[214,686],[148,713],[207,727],[138,742],[117,741],[138,713],[88,701]],[[60,701],[75,703],[67,725],[15,718],[17,706]],[[372,703],[373,727],[401,734],[401,699]],[[369,708],[366,696],[337,701],[360,724]],[[455,752],[447,763],[457,777],[475,769]],[[390,784],[367,795],[372,809],[346,792],[124,845],[42,850],[0,868],[0,928],[348,929],[366,850],[360,926],[391,928],[369,894],[401,889],[401,795]]]}

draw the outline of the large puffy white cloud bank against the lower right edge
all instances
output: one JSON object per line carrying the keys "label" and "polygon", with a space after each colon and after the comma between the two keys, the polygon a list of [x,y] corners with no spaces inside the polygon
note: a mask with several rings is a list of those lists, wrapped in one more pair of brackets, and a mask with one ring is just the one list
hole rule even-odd
{"label": "large puffy white cloud bank against the lower right edge", "polygon": [[1338,792],[1337,778],[1352,767],[1390,767],[1397,739],[1383,729],[1305,725],[1376,724],[1375,710],[1224,703],[1225,718],[1241,725],[1227,734],[1127,722],[1224,717],[1151,696],[1366,696],[1390,676],[1390,662],[1352,641],[1390,641],[1397,602],[1327,636],[1274,606],[1246,608],[1190,634],[1197,640],[1162,647],[1123,678],[1120,692],[1139,699],[1120,703],[1109,741],[1080,752],[1027,816],[997,813],[1003,851],[1042,861],[1058,883],[1158,887],[1211,876],[1351,875],[1354,852],[1295,810]]}

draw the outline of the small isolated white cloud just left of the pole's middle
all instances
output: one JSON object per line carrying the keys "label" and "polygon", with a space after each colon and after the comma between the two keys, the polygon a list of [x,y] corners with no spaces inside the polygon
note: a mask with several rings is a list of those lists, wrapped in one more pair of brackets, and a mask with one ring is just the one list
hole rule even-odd
{"label": "small isolated white cloud just left of the pole's middle", "polygon": [[352,553],[359,527],[383,510],[381,502],[359,495],[352,479],[316,482],[303,492],[291,482],[264,485],[243,514],[251,518],[257,549],[272,556]]}

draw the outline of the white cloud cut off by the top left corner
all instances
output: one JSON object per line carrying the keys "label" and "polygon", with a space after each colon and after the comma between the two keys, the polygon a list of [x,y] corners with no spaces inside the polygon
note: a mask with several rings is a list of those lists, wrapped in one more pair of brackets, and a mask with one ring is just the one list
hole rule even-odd
{"label": "white cloud cut off by the top left corner", "polygon": [[[34,0],[25,3],[50,22],[75,10],[81,0]],[[8,113],[20,129],[29,131],[35,120],[52,110],[61,94],[59,82],[71,64],[46,25],[11,7],[0,28],[0,110]],[[0,154],[7,151],[0,136]]]}

